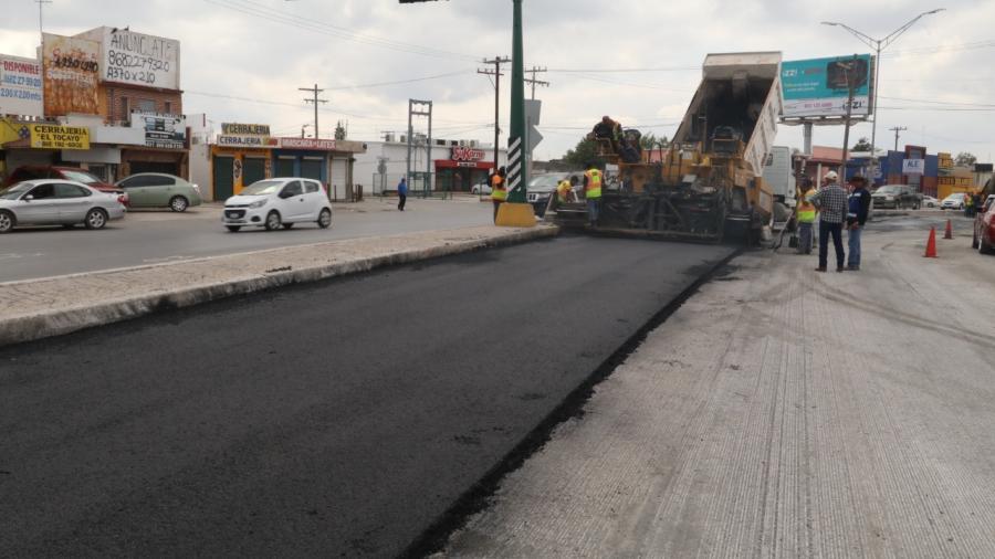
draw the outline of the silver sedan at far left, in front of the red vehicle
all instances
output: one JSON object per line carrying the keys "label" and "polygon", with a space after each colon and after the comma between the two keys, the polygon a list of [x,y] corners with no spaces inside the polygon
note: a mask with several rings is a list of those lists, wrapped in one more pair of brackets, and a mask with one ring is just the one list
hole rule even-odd
{"label": "silver sedan at far left, in front of the red vehicle", "polygon": [[72,228],[83,223],[86,229],[102,229],[124,215],[123,194],[72,180],[25,180],[0,192],[0,233],[18,225]]}

